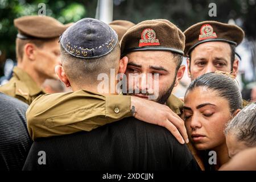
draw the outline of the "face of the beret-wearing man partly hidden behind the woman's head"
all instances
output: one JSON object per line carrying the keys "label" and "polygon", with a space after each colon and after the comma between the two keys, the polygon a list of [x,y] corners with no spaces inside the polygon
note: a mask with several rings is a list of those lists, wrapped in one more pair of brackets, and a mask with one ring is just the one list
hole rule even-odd
{"label": "face of the beret-wearing man partly hidden behind the woman's head", "polygon": [[188,73],[191,80],[205,73],[233,71],[237,75],[238,60],[231,65],[231,48],[225,42],[207,42],[199,44],[191,52],[191,60],[187,60]]}

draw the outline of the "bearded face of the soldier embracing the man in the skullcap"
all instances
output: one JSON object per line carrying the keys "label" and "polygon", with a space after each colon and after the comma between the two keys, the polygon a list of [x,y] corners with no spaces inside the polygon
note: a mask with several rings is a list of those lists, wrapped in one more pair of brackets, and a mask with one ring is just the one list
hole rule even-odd
{"label": "bearded face of the soldier embracing the man in the skullcap", "polygon": [[[176,86],[177,58],[168,51],[135,51],[127,57],[125,74],[127,90],[133,90],[130,94],[164,104]],[[183,76],[183,72],[179,75]],[[139,93],[135,93],[135,89]]]}

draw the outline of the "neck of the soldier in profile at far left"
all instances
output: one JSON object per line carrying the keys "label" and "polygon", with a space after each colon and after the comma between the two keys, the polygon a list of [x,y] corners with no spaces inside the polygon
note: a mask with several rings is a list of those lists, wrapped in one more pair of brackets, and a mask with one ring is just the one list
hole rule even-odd
{"label": "neck of the soldier in profile at far left", "polygon": [[22,69],[24,72],[26,72],[36,83],[36,85],[38,85],[39,87],[41,87],[41,85],[43,84],[43,82],[46,80],[46,78],[40,76],[33,68],[30,67],[30,65],[26,65],[26,64],[21,64],[18,61],[18,68]]}

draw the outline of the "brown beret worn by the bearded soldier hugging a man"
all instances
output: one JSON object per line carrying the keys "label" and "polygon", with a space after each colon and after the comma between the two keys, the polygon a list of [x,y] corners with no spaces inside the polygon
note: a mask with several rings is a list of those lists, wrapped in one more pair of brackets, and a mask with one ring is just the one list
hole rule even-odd
{"label": "brown beret worn by the bearded soldier hugging a man", "polygon": [[121,55],[132,51],[171,51],[183,55],[185,36],[166,19],[146,20],[131,27],[121,40]]}

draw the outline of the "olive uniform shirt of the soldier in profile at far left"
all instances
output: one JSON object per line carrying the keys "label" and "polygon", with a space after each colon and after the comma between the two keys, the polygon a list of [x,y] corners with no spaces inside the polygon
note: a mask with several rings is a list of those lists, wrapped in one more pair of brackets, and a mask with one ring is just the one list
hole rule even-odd
{"label": "olive uniform shirt of the soldier in profile at far left", "polygon": [[0,86],[0,92],[18,98],[28,105],[40,94],[45,94],[42,88],[22,69],[14,67],[13,77],[5,85]]}

